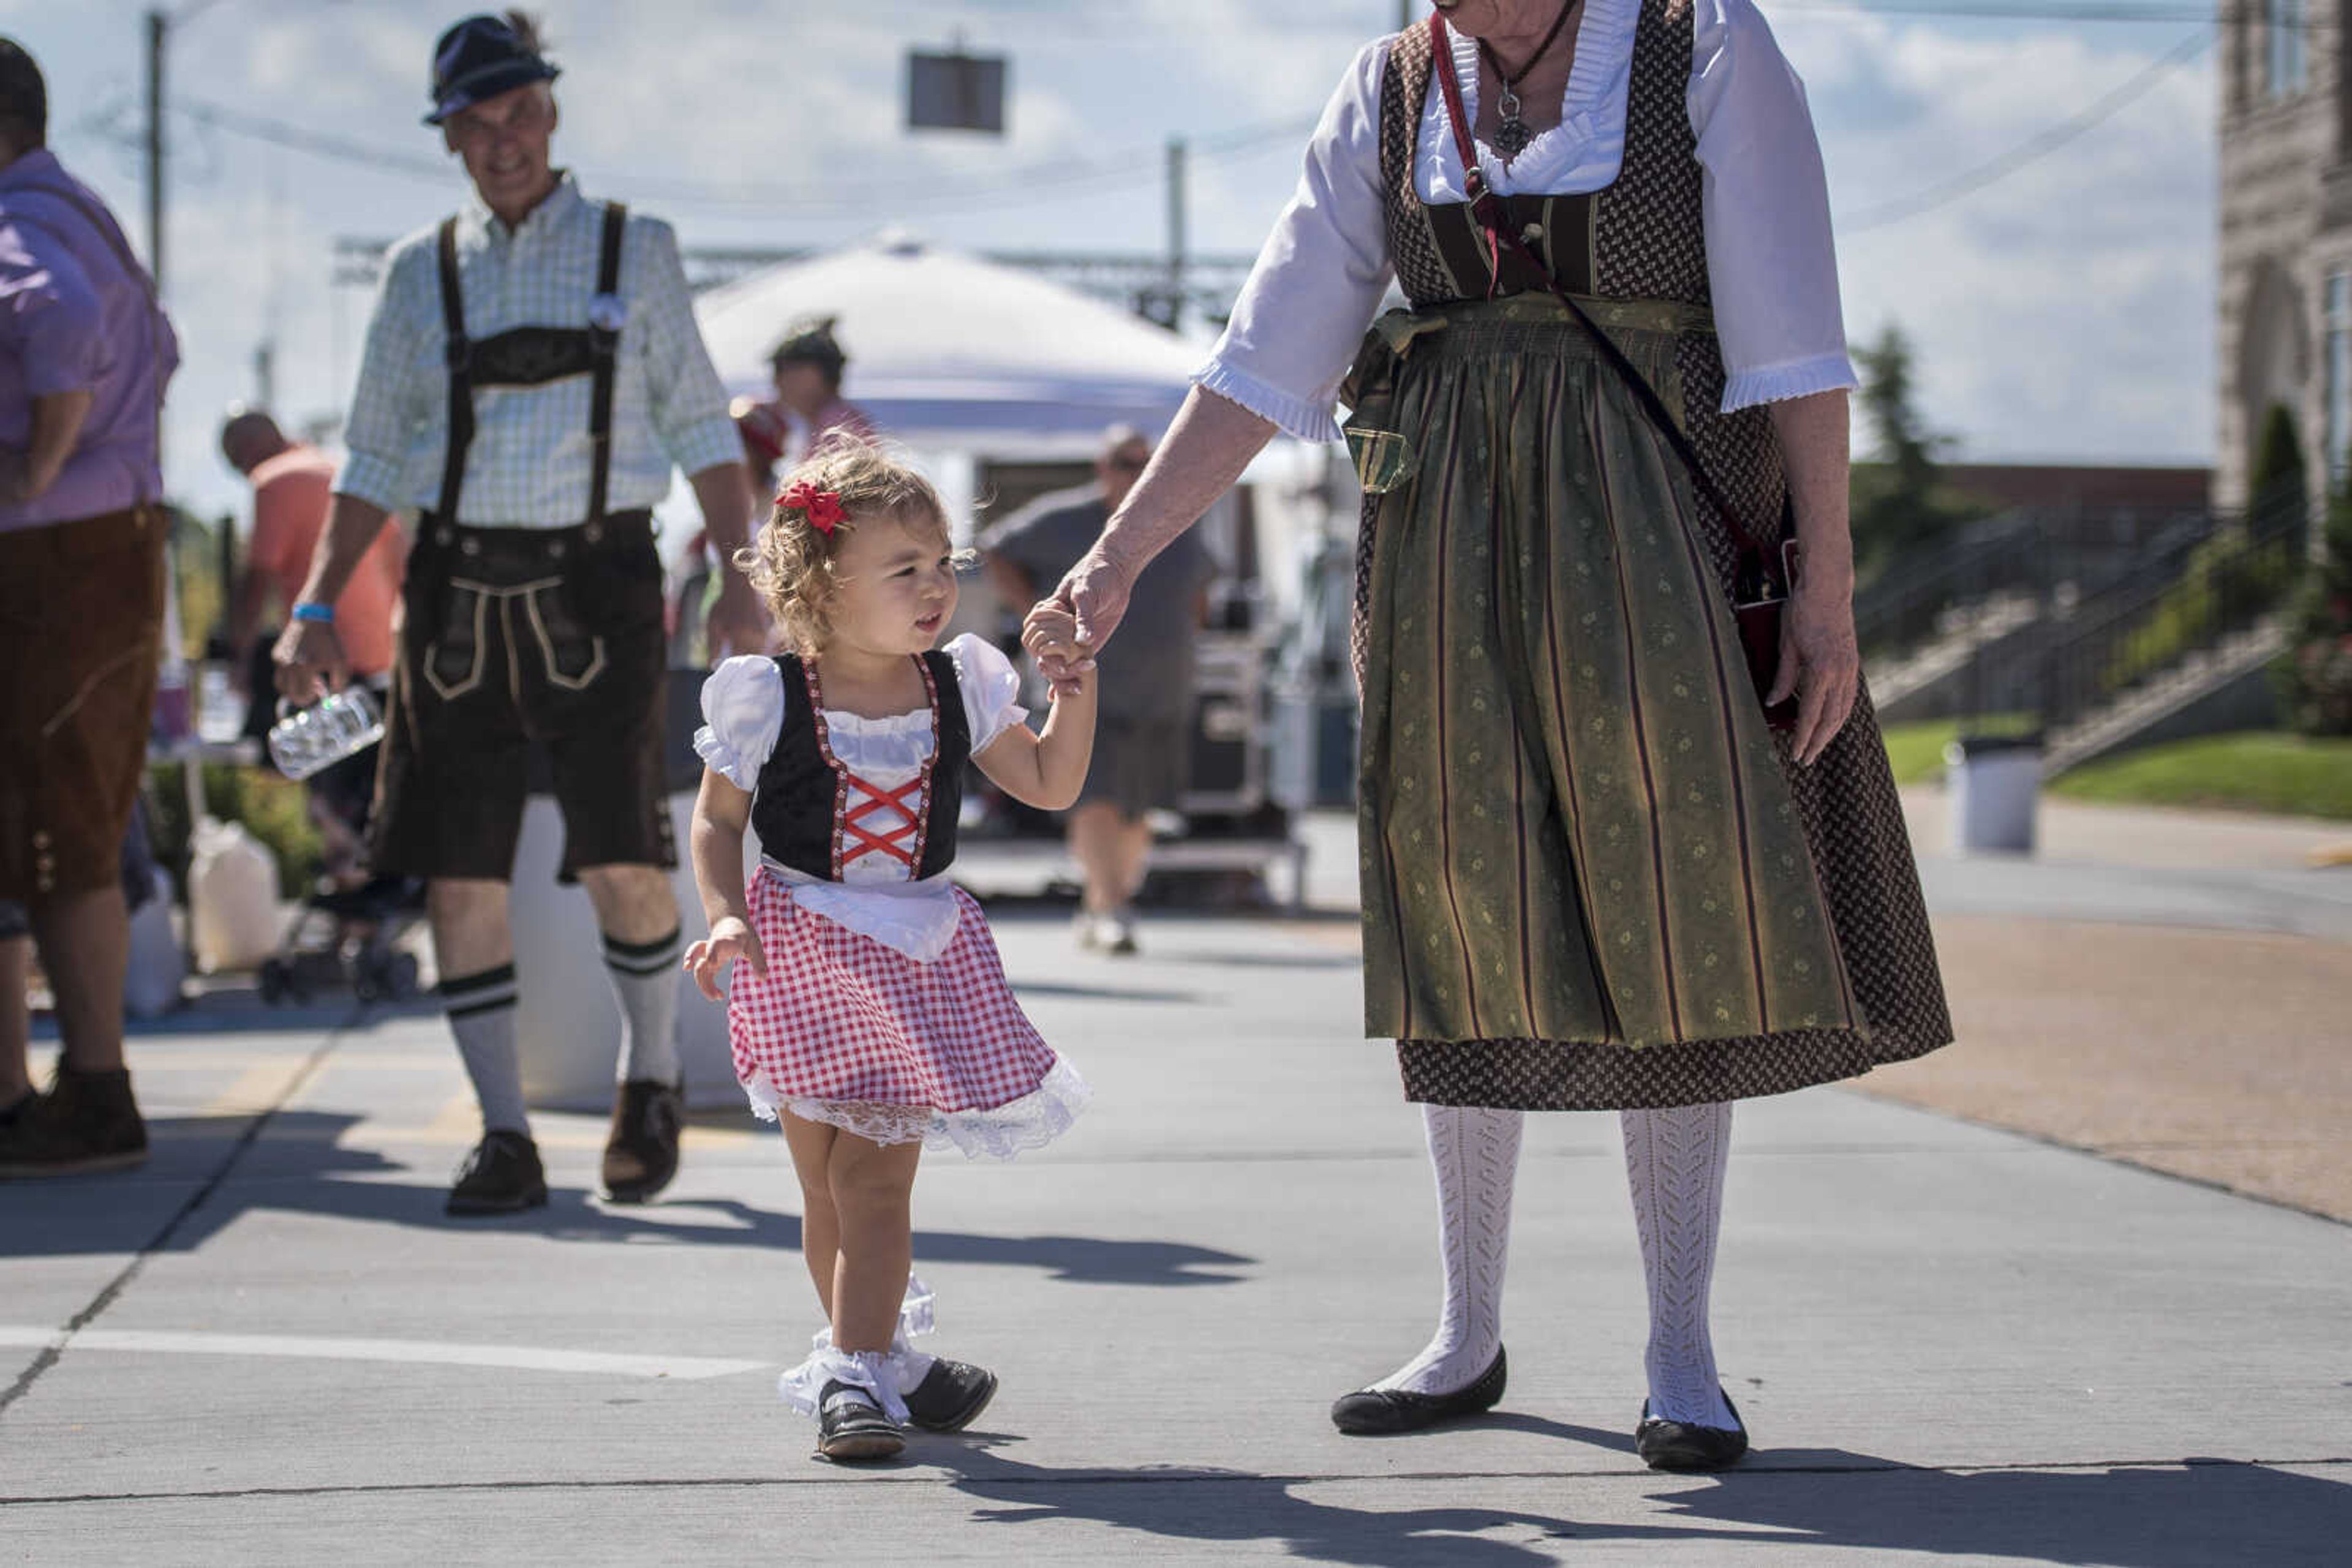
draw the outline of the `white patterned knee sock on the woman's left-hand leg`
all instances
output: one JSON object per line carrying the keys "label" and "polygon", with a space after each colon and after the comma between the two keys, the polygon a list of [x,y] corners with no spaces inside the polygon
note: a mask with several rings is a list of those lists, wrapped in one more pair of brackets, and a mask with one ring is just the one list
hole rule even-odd
{"label": "white patterned knee sock on the woman's left-hand leg", "polygon": [[1503,1345],[1503,1265],[1510,1258],[1510,1190],[1519,1171],[1515,1110],[1423,1105],[1437,1173],[1437,1253],[1446,1305],[1437,1338],[1376,1389],[1451,1394],[1494,1363]]}

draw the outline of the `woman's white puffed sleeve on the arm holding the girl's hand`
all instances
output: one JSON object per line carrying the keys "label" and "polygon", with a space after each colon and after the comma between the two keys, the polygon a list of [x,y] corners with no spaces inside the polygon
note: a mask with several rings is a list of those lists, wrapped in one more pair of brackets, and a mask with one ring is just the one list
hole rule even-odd
{"label": "woman's white puffed sleeve on the arm holding the girl's hand", "polygon": [[1192,376],[1258,418],[1310,442],[1336,442],[1341,376],[1388,294],[1381,202],[1381,73],[1388,40],[1367,45],[1308,141],[1305,172],[1258,263]]}

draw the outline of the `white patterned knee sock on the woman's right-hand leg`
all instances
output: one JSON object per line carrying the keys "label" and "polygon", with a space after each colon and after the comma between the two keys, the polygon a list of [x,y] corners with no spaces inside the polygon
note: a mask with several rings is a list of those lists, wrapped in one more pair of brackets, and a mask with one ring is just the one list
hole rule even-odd
{"label": "white patterned knee sock on the woman's right-hand leg", "polygon": [[1625,1178],[1649,1276],[1649,1413],[1729,1429],[1731,1406],[1715,1373],[1708,1291],[1724,1218],[1731,1105],[1628,1110]]}

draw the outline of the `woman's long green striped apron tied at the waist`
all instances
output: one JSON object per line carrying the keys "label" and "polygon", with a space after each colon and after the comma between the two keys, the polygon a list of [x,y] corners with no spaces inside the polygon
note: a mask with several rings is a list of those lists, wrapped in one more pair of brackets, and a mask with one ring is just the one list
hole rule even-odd
{"label": "woman's long green striped apron tied at the waist", "polygon": [[[1670,301],[1581,301],[1668,407]],[[1364,1030],[1860,1030],[1682,461],[1548,296],[1395,310],[1343,400],[1371,529]]]}

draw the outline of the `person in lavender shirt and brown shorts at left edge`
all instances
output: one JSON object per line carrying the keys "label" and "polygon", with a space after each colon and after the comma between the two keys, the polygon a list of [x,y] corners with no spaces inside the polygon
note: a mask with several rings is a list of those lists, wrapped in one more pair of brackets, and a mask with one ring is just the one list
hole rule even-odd
{"label": "person in lavender shirt and brown shorts at left edge", "polygon": [[[106,205],[47,148],[40,66],[0,38],[0,1178],[146,1159],[122,1065],[122,835],[162,644],[155,421],[172,324]],[[26,1060],[38,943],[64,1058]]]}

